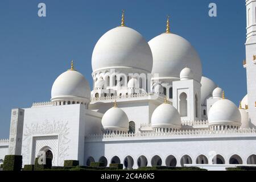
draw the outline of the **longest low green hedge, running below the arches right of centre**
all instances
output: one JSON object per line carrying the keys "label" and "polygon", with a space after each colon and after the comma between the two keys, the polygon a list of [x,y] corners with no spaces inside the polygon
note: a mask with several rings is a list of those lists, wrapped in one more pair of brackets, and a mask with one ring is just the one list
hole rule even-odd
{"label": "longest low green hedge, running below the arches right of centre", "polygon": [[154,166],[154,167],[139,167],[138,171],[207,171],[199,167],[168,167],[168,166]]}

